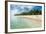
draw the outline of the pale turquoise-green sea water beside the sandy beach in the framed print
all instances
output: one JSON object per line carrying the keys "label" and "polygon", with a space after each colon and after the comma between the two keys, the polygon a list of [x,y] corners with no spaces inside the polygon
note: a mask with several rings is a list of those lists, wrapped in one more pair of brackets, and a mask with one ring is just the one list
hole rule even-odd
{"label": "pale turquoise-green sea water beside the sandy beach in the framed print", "polygon": [[19,16],[12,16],[10,21],[10,28],[11,29],[23,29],[23,28],[33,28],[39,27],[31,22],[31,20],[19,17]]}

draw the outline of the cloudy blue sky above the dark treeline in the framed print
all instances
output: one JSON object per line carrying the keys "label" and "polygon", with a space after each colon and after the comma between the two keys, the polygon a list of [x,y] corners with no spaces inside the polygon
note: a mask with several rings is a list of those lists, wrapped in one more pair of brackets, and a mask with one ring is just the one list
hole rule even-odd
{"label": "cloudy blue sky above the dark treeline in the framed print", "polygon": [[10,5],[10,12],[11,14],[19,14],[19,13],[22,13],[22,12],[28,12],[32,9],[41,9],[42,7],[41,6],[31,6],[31,5],[14,5],[14,4],[11,4]]}

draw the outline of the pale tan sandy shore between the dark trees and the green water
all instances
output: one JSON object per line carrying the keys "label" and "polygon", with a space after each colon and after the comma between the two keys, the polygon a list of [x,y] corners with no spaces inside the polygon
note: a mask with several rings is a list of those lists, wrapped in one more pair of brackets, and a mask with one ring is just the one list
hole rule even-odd
{"label": "pale tan sandy shore between the dark trees and the green water", "polygon": [[31,20],[32,23],[37,24],[37,25],[41,25],[42,23],[42,15],[27,15],[27,16],[18,16],[18,17],[29,19]]}

